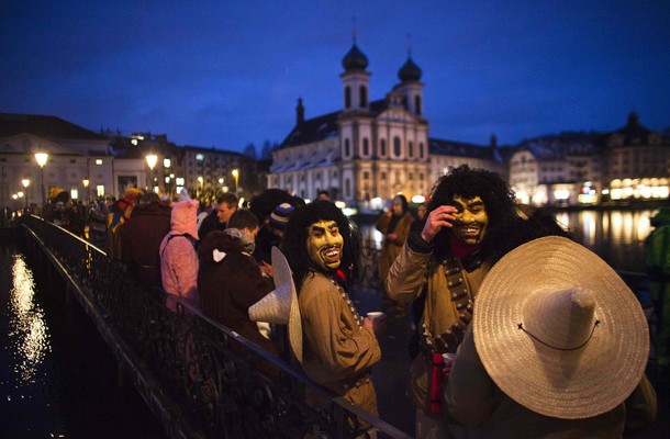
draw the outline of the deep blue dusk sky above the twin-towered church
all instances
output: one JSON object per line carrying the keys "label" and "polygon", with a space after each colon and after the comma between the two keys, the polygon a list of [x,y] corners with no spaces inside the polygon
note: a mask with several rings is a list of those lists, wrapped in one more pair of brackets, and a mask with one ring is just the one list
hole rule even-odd
{"label": "deep blue dusk sky above the twin-towered church", "polygon": [[299,97],[308,119],[342,109],[354,27],[372,100],[410,42],[432,137],[613,131],[632,110],[670,126],[668,0],[29,0],[0,19],[0,112],[178,145],[281,142]]}

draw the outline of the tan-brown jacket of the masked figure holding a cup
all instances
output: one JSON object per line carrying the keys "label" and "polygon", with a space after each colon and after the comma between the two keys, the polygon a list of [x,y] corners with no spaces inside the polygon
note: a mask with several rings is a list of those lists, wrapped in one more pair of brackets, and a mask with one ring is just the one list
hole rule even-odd
{"label": "tan-brown jacket of the masked figure holding a cup", "polygon": [[342,286],[322,273],[308,274],[298,297],[306,375],[347,401],[377,414],[370,368],[381,359],[375,333],[359,327]]}

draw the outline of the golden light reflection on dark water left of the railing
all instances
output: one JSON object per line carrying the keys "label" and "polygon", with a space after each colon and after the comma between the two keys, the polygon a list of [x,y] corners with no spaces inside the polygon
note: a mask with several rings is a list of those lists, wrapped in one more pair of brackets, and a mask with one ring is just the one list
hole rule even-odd
{"label": "golden light reflection on dark water left of the railing", "polygon": [[33,272],[22,255],[14,256],[10,292],[10,342],[15,345],[14,372],[19,383],[35,382],[37,367],[51,351],[44,311],[35,304]]}

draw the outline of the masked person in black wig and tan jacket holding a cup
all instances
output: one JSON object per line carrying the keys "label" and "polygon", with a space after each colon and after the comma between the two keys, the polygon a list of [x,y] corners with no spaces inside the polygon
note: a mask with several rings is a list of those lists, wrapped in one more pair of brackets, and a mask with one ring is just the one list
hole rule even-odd
{"label": "masked person in black wig and tan jacket holding a cup", "polygon": [[[298,291],[303,336],[298,362],[312,381],[377,415],[370,372],[381,359],[377,335],[383,319],[361,317],[347,294],[357,270],[356,244],[342,211],[328,201],[315,201],[295,209],[281,250]],[[319,401],[311,403],[320,406]]]}

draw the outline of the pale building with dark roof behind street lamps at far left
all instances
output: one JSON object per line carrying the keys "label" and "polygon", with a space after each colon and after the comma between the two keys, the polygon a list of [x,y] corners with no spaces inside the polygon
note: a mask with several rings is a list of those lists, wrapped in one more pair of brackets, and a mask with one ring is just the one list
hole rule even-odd
{"label": "pale building with dark roof behind street lamps at far left", "polygon": [[[120,184],[142,181],[144,161],[118,159],[109,138],[49,115],[0,113],[0,202],[11,205],[11,194],[25,190],[27,202],[41,205],[41,188],[63,188],[74,200],[113,195]],[[47,153],[41,172],[35,153]],[[42,182],[42,176],[44,181]],[[22,188],[22,180],[31,181]],[[121,181],[121,183],[120,183]]]}

